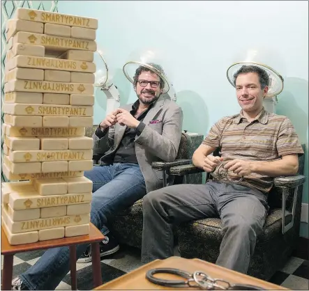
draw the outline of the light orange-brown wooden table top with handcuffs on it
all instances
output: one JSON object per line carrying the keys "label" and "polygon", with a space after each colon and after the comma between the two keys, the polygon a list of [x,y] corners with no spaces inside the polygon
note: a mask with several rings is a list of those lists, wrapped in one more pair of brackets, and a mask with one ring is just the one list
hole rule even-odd
{"label": "light orange-brown wooden table top with handcuffs on it", "polygon": [[[200,290],[199,288],[169,288],[153,284],[146,279],[146,272],[153,268],[176,268],[193,273],[202,271],[212,278],[223,278],[229,283],[241,283],[255,285],[266,290],[288,290],[282,286],[275,285],[258,278],[254,278],[239,272],[226,269],[199,259],[185,259],[180,257],[170,257],[165,260],[154,260],[133,272],[125,274],[108,283],[100,285],[94,290]],[[180,280],[181,277],[172,274],[156,274],[156,277],[169,280]],[[183,278],[183,281],[186,279]]]}

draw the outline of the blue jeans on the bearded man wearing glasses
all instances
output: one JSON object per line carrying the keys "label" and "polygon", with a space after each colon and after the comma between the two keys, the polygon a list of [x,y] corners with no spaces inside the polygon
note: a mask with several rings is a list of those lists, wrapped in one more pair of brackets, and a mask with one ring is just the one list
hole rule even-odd
{"label": "blue jeans on the bearded man wearing glasses", "polygon": [[[94,166],[84,175],[93,181],[91,222],[100,230],[105,228],[113,214],[133,205],[146,194],[144,177],[137,164]],[[77,258],[87,246],[77,246]],[[48,249],[20,278],[29,290],[54,290],[70,271],[69,262],[68,246]]]}

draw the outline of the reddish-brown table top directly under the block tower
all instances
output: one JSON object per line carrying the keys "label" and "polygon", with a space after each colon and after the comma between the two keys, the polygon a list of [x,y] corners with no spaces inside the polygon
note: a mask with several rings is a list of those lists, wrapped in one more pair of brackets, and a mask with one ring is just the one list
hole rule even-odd
{"label": "reddish-brown table top directly under the block tower", "polygon": [[90,223],[89,235],[80,235],[77,237],[63,237],[61,239],[50,239],[42,242],[33,242],[32,244],[19,244],[12,246],[8,243],[6,233],[1,227],[1,255],[10,255],[14,253],[23,253],[24,251],[36,251],[39,249],[52,249],[60,246],[72,246],[74,244],[90,244],[91,242],[100,242],[104,235]]}

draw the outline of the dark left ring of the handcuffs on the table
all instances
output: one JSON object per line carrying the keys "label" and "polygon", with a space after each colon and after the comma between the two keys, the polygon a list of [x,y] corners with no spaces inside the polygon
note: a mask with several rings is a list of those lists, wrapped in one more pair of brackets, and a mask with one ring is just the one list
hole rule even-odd
{"label": "dark left ring of the handcuffs on the table", "polygon": [[166,286],[166,287],[188,287],[188,282],[183,280],[167,280],[163,278],[156,278],[153,275],[154,274],[174,274],[177,276],[181,276],[183,278],[189,279],[192,278],[192,275],[186,271],[181,271],[179,269],[173,269],[173,268],[156,268],[156,269],[150,269],[146,272],[146,278],[151,281],[151,283]]}

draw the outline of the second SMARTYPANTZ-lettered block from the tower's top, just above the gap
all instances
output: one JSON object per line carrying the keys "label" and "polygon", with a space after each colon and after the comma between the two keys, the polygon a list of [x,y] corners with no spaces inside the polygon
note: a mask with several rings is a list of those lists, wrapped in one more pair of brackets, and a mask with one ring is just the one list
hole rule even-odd
{"label": "second SMARTYPANTZ-lettered block from the tower's top, just above the gap", "polygon": [[96,52],[96,42],[94,40],[47,36],[46,34],[40,33],[19,31],[13,37],[13,43],[17,42],[27,45],[43,45],[45,49],[52,49],[58,52],[65,52],[67,49],[81,49],[83,51]]}

